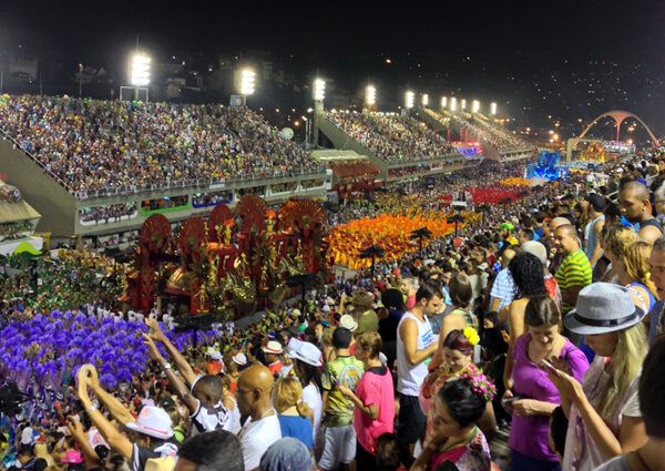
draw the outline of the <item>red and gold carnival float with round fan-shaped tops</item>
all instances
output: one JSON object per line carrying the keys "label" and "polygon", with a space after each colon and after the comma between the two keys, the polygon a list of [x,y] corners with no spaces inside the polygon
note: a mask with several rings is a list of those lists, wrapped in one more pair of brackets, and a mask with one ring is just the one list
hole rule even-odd
{"label": "red and gold carnival float with round fan-shaped tops", "polygon": [[190,217],[177,235],[154,214],[141,228],[120,301],[146,311],[167,299],[180,315],[226,319],[276,306],[295,294],[289,278],[328,274],[325,222],[317,202],[289,201],[276,212],[256,195],[233,212],[217,205],[207,222]]}

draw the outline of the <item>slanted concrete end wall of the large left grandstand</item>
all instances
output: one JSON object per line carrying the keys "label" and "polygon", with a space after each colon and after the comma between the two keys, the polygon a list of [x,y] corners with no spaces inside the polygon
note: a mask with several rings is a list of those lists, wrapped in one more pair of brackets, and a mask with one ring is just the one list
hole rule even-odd
{"label": "slanted concrete end wall of the large left grandstand", "polygon": [[13,147],[11,141],[0,140],[0,173],[16,186],[23,198],[41,214],[37,232],[54,236],[74,234],[75,199],[58,182]]}

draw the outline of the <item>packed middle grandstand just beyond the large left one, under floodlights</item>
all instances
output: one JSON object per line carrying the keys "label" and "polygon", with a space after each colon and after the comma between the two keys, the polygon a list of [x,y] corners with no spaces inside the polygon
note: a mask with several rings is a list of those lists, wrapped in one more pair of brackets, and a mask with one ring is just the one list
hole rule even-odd
{"label": "packed middle grandstand just beyond the large left one, under floodlights", "polygon": [[442,135],[412,117],[341,110],[324,116],[388,163],[458,155]]}

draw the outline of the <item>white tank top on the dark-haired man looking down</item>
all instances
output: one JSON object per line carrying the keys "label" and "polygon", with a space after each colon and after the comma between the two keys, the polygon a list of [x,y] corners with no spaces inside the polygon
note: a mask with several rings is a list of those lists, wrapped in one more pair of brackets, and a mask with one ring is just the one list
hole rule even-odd
{"label": "white tank top on the dark-haired man looking down", "polygon": [[418,350],[424,350],[434,342],[434,336],[429,319],[427,316],[423,317],[424,321],[421,322],[411,313],[406,313],[397,326],[397,391],[405,396],[418,397],[420,385],[422,385],[427,376],[427,366],[424,365],[424,360],[418,365],[411,365],[407,361],[405,344],[399,332],[402,322],[406,319],[412,319],[418,326]]}

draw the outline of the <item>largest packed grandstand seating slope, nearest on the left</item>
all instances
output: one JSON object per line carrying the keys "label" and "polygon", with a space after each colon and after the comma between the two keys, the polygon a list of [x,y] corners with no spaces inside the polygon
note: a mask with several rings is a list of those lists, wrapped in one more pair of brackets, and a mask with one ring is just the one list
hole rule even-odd
{"label": "largest packed grandstand seating slope, nearest on the left", "polygon": [[0,130],[72,192],[321,171],[241,107],[3,95]]}

